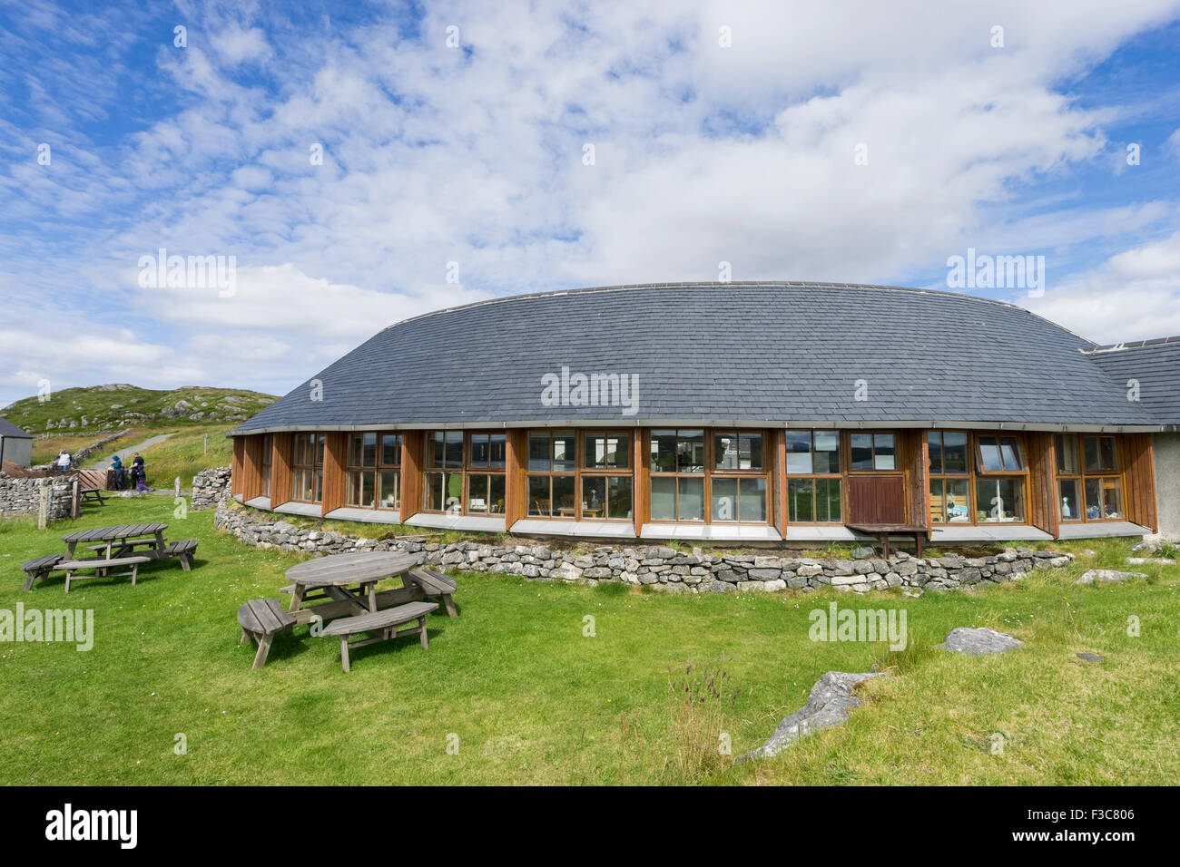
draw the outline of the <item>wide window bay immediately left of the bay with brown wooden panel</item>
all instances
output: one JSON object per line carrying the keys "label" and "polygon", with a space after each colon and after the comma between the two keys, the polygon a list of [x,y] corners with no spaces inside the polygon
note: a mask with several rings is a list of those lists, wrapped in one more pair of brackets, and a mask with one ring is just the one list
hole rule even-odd
{"label": "wide window bay immediately left of the bay with brown wooden panel", "polygon": [[761,431],[651,432],[651,520],[768,520]]}

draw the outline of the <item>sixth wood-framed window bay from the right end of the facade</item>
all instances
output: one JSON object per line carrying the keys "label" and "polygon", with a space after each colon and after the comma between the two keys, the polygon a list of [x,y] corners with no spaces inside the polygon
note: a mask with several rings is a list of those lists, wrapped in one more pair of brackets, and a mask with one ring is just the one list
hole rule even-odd
{"label": "sixth wood-framed window bay from the right end of the facade", "polygon": [[506,466],[506,434],[427,433],[422,508],[447,514],[503,514]]}

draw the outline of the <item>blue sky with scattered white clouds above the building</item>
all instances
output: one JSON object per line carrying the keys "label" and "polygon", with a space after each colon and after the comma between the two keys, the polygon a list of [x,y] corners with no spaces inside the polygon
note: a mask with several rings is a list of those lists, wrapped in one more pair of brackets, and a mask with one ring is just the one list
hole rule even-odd
{"label": "blue sky with scattered white clouds above the building", "polygon": [[[284,393],[406,316],[721,262],[1043,256],[964,291],[1180,334],[1180,0],[93,6],[0,0],[0,406]],[[160,249],[232,285],[144,285]]]}

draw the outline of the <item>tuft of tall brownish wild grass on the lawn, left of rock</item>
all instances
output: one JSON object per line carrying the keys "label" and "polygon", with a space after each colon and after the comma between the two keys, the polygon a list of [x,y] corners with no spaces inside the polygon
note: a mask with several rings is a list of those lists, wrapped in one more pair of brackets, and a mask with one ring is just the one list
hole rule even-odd
{"label": "tuft of tall brownish wild grass on the lawn, left of rock", "polygon": [[733,761],[726,711],[738,701],[738,690],[725,668],[729,661],[722,653],[703,668],[687,664],[683,674],[668,668],[673,694],[669,770],[678,782],[699,782]]}

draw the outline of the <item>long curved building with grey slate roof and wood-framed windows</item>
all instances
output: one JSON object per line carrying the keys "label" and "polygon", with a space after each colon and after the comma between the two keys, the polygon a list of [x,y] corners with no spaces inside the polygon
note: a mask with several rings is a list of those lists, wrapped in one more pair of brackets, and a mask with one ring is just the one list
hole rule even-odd
{"label": "long curved building with grey slate roof and wood-framed windows", "polygon": [[815,283],[579,289],[399,322],[231,432],[235,497],[421,527],[936,543],[1158,527],[1161,409],[1023,308]]}

